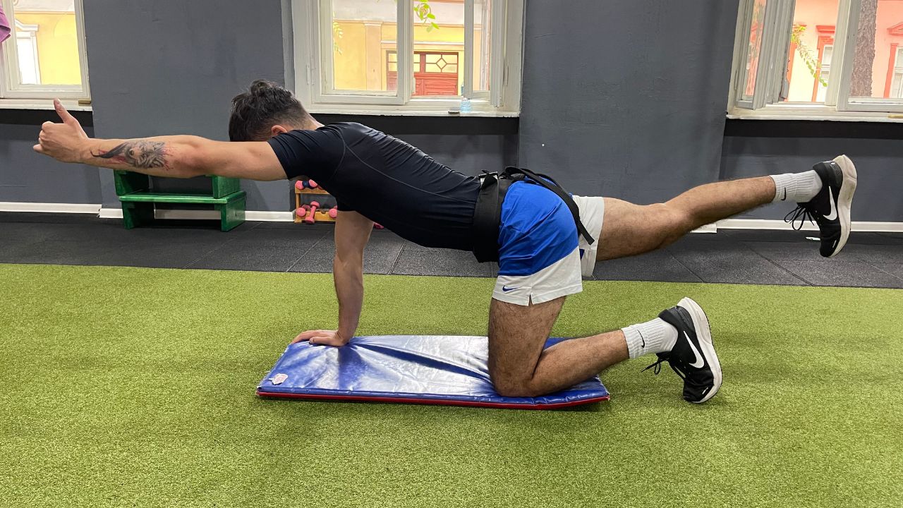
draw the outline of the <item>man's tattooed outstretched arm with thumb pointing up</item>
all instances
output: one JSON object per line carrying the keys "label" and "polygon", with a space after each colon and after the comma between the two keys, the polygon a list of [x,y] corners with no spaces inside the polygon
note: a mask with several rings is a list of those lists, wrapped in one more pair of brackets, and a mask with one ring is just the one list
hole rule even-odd
{"label": "man's tattooed outstretched arm with thumb pointing up", "polygon": [[67,163],[191,178],[216,174],[248,180],[280,180],[285,172],[265,142],[226,143],[199,136],[93,139],[59,101],[61,124],[45,122],[34,151]]}

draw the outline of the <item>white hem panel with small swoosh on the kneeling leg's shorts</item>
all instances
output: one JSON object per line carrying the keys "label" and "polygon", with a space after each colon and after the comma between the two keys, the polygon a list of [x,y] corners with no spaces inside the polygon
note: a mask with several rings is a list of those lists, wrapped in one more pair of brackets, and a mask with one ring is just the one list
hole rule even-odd
{"label": "white hem panel with small swoosh on the kneeling leg's shorts", "polygon": [[535,274],[498,276],[492,297],[508,304],[528,306],[531,301],[541,304],[582,290],[578,248]]}

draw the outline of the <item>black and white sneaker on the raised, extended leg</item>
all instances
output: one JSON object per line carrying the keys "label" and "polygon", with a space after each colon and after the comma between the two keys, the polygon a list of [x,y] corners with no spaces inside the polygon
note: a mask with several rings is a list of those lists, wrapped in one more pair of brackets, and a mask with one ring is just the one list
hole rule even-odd
{"label": "black and white sneaker on the raised, extended leg", "polygon": [[[796,210],[787,213],[784,221],[795,230],[808,220],[818,224],[821,231],[822,256],[831,258],[843,249],[850,237],[850,205],[856,192],[856,166],[850,157],[840,155],[833,161],[812,166],[822,178],[822,190],[812,200],[801,202]],[[797,225],[795,222],[799,221]]]}

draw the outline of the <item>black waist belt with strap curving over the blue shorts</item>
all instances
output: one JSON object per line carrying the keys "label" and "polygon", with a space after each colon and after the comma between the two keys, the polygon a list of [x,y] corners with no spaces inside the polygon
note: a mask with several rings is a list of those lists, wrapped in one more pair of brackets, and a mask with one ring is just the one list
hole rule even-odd
{"label": "black waist belt with strap curving over the blue shorts", "polygon": [[477,204],[473,210],[472,226],[473,254],[480,263],[498,261],[498,228],[501,225],[502,202],[505,200],[507,188],[511,183],[526,180],[526,178],[530,179],[527,180],[528,183],[542,185],[560,197],[573,216],[578,234],[590,244],[596,241],[583,226],[577,203],[573,202],[573,198],[551,177],[514,166],[506,167],[502,174],[483,173],[480,176],[481,182]]}

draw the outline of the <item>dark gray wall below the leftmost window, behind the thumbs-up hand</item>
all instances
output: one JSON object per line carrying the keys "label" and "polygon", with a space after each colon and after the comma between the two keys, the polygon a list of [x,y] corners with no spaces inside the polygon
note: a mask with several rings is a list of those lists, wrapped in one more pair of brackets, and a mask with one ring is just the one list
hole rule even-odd
{"label": "dark gray wall below the leftmost window, behind the thumbs-up hand", "polygon": [[[91,116],[75,115],[92,136]],[[53,111],[0,109],[0,202],[100,202],[97,168],[64,165],[34,153],[46,121],[59,118]]]}

